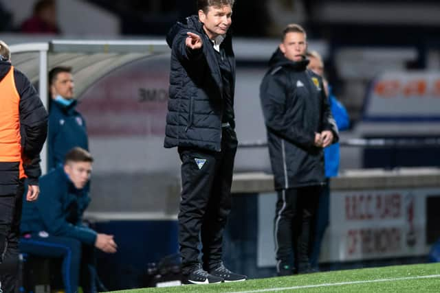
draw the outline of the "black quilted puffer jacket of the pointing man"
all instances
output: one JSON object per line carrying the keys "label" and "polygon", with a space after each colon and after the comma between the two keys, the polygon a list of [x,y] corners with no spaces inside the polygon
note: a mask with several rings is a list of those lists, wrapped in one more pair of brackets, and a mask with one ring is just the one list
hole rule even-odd
{"label": "black quilted puffer jacket of the pointing man", "polygon": [[[187,49],[187,32],[201,36],[201,49]],[[171,28],[166,41],[172,53],[164,146],[195,147],[219,152],[223,84],[216,52],[210,39],[203,32],[199,18],[190,16],[186,23],[176,23]],[[225,49],[226,58],[232,67],[234,78],[231,85],[234,89],[235,58],[229,32],[221,46]],[[231,98],[233,101],[233,91]]]}

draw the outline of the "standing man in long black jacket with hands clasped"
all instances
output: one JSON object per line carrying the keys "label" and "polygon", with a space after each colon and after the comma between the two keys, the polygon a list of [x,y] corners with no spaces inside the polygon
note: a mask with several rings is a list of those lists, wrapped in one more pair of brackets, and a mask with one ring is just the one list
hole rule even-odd
{"label": "standing man in long black jacket with hands clasped", "polygon": [[310,272],[309,244],[320,188],[323,148],[338,141],[322,78],[307,70],[306,33],[287,25],[260,88],[275,189],[274,237],[279,275]]}

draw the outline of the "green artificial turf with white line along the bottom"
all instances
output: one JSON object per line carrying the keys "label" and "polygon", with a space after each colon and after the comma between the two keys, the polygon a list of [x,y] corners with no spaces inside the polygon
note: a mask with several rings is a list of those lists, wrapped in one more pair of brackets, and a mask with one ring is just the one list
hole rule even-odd
{"label": "green artificial turf with white line along the bottom", "polygon": [[340,270],[237,283],[143,288],[118,293],[177,292],[440,292],[440,263]]}

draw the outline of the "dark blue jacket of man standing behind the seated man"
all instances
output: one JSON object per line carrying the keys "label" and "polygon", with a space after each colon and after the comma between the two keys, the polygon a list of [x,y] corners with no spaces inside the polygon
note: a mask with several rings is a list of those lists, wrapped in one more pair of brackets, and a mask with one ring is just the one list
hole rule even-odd
{"label": "dark blue jacket of man standing behind the seated man", "polygon": [[69,106],[51,100],[49,110],[49,133],[47,135],[47,165],[49,170],[60,167],[64,156],[72,148],[89,150],[87,128],[83,116],[76,110],[77,102]]}

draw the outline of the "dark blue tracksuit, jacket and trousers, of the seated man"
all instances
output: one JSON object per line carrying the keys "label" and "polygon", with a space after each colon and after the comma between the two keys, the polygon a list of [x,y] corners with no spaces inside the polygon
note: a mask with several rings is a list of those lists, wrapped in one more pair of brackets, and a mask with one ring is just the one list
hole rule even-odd
{"label": "dark blue tracksuit, jacket and trousers, of the seated man", "polygon": [[41,194],[23,202],[20,250],[30,255],[63,258],[67,293],[78,292],[80,272],[85,292],[96,292],[96,232],[83,226],[90,202],[86,189],[76,189],[63,167],[40,178]]}

